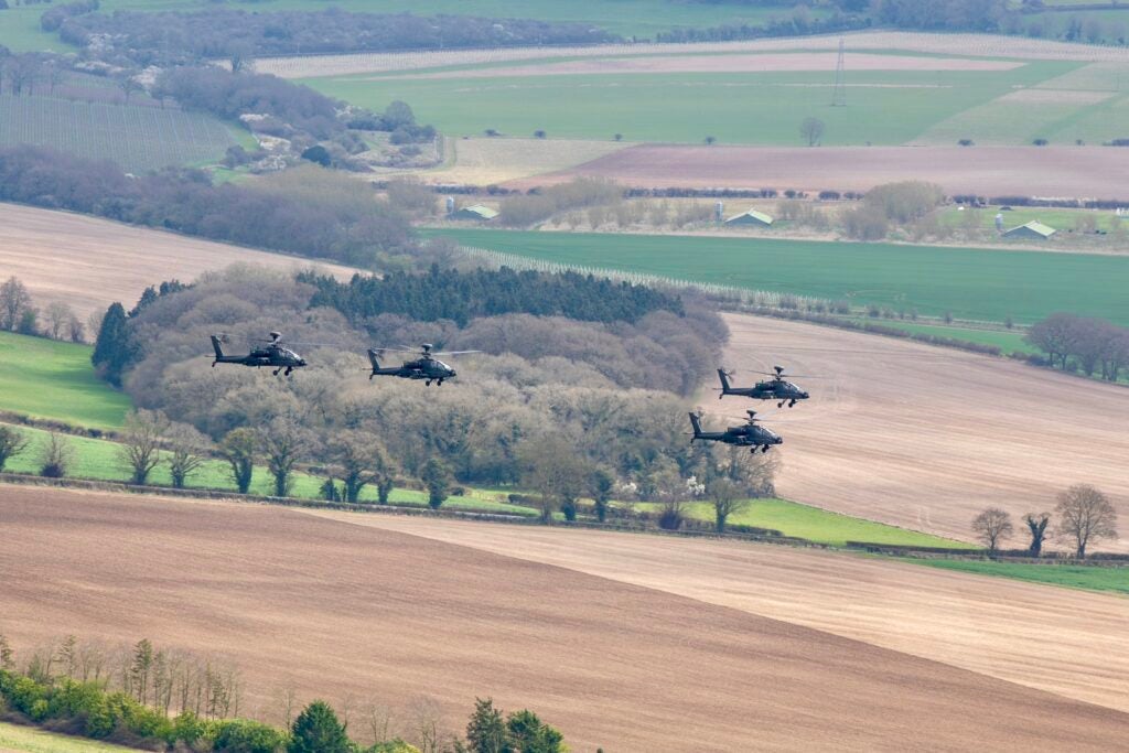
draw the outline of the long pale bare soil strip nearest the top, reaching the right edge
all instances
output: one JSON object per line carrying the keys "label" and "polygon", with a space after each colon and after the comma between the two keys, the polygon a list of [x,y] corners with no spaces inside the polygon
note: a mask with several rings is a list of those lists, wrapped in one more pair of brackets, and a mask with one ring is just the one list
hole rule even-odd
{"label": "long pale bare soil strip nearest the top, reaching the right edge", "polygon": [[[605,58],[609,55],[685,55],[789,50],[825,52],[839,49],[842,35],[755,40],[744,42],[700,42],[686,44],[612,44],[575,47],[513,47],[496,50],[445,50],[425,52],[356,53],[261,58],[260,73],[281,78],[316,78],[385,71],[422,70],[447,65],[509,63],[523,60],[559,58]],[[900,51],[925,54],[1015,58],[1021,60],[1071,60],[1080,62],[1127,62],[1124,47],[1029,40],[991,34],[916,34],[910,32],[859,32],[848,34],[850,53],[858,51]]]}

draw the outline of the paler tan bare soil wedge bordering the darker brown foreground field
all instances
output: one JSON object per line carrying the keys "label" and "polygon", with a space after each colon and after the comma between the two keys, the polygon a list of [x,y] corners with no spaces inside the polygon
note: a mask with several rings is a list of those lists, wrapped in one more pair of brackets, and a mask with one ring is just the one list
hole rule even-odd
{"label": "paler tan bare soil wedge bordering the darker brown foreground field", "polygon": [[1118,596],[814,549],[314,514],[677,594],[1129,711],[1129,599]]}

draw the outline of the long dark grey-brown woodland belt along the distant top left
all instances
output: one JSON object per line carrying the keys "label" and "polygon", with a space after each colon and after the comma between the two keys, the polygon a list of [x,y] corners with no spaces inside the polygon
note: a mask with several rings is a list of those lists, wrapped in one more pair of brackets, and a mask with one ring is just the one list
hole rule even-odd
{"label": "long dark grey-brown woodland belt along the distant top left", "polygon": [[[50,11],[49,11],[50,12]],[[55,16],[51,16],[52,25]],[[184,65],[211,59],[245,59],[333,52],[390,52],[597,44],[620,37],[589,24],[527,18],[415,16],[412,14],[245,11],[79,14],[58,27],[63,42],[107,62]],[[97,44],[94,42],[97,41]]]}

